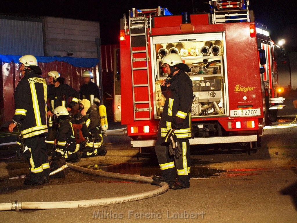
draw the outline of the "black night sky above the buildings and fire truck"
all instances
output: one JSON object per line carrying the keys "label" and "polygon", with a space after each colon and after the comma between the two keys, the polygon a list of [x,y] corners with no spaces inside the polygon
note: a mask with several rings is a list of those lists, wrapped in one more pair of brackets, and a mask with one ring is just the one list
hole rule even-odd
{"label": "black night sky above the buildings and fire truck", "polygon": [[[238,0],[239,1],[239,0]],[[119,35],[119,20],[123,13],[133,7],[137,9],[156,8],[162,6],[168,8],[173,14],[181,12],[193,12],[193,8],[200,11],[208,11],[207,0],[138,0],[138,1],[114,1],[114,0],[15,0],[1,1],[0,13],[56,16],[75,18],[100,22],[102,44],[117,43]],[[281,2],[281,3],[280,3]],[[250,0],[250,10],[254,10],[256,21],[268,26],[271,37],[277,42],[286,40],[286,47],[290,51],[297,51],[297,25],[296,8],[293,1],[276,0]]]}

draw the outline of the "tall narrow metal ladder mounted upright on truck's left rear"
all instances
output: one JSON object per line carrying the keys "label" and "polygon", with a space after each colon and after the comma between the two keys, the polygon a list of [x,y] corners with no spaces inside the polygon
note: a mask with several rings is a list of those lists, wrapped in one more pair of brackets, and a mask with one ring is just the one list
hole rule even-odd
{"label": "tall narrow metal ladder mounted upright on truck's left rear", "polygon": [[134,120],[151,120],[151,100],[149,84],[149,54],[147,45],[148,12],[158,13],[158,9],[129,11],[129,34],[131,49],[131,73]]}

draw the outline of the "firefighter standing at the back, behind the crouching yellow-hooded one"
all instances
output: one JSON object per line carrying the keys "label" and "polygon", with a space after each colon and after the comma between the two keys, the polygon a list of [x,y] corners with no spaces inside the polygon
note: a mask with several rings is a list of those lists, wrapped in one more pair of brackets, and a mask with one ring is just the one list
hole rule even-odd
{"label": "firefighter standing at the back, behind the crouching yellow-hooded one", "polygon": [[[92,82],[94,75],[91,71],[84,71],[82,74],[84,84],[80,87],[80,99],[88,99],[91,102],[94,102],[99,105],[100,103],[100,92],[99,87],[96,83]],[[94,95],[94,98],[91,98],[91,95]]]}

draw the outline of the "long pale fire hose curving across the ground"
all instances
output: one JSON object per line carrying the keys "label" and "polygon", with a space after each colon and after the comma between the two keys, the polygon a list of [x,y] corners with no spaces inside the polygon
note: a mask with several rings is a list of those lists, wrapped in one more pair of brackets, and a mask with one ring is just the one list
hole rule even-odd
{"label": "long pale fire hose curving across the ground", "polygon": [[[69,168],[73,170],[92,174],[92,175],[97,175],[97,176],[118,178],[118,179],[124,179],[124,180],[134,180],[134,181],[140,181],[144,183],[151,183],[153,181],[152,178],[150,177],[98,171],[94,169],[79,167],[70,163],[67,163],[67,165]],[[154,189],[152,191],[142,192],[138,194],[132,194],[132,195],[121,196],[121,197],[99,198],[99,199],[92,199],[92,200],[57,201],[57,202],[20,202],[16,200],[10,203],[1,203],[0,211],[10,211],[10,210],[20,211],[23,209],[82,208],[82,207],[95,207],[95,206],[101,206],[101,205],[126,203],[126,202],[138,201],[138,200],[143,200],[151,197],[156,197],[168,191],[169,186],[166,182],[159,183],[159,186],[161,187],[159,187],[158,189]]]}

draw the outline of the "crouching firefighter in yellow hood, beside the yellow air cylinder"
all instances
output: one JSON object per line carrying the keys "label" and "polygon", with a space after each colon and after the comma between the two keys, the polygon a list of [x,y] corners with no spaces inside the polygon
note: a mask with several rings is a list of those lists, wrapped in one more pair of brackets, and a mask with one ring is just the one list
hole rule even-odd
{"label": "crouching firefighter in yellow hood, beside the yellow air cylinder", "polygon": [[81,114],[86,122],[86,125],[90,131],[89,142],[86,144],[83,152],[84,157],[91,156],[104,156],[107,153],[105,145],[103,143],[100,115],[98,112],[98,106],[92,105],[89,100],[83,99],[80,101]]}

